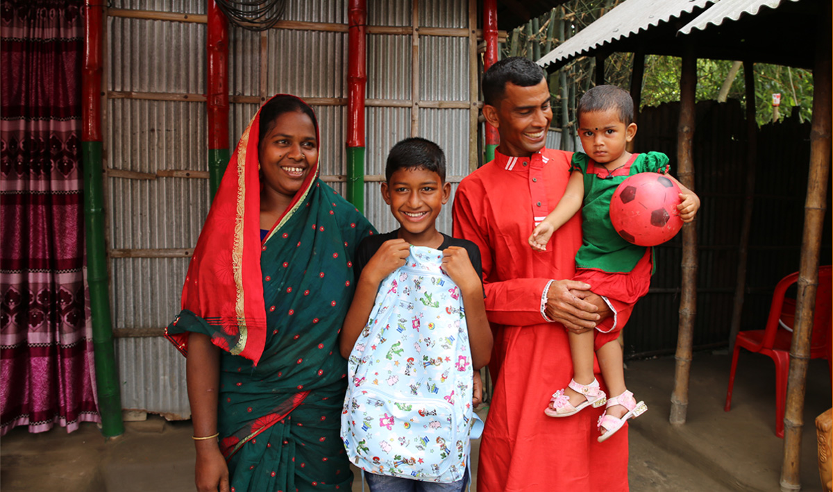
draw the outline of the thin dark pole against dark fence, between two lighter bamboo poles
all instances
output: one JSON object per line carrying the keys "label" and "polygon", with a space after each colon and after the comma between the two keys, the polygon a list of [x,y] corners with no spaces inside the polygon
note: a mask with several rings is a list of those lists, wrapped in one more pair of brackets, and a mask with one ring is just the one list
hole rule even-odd
{"label": "thin dark pole against dark fence, between two lighter bamboo poles", "polygon": [[741,315],[746,296],[746,263],[749,256],[749,232],[752,209],[755,206],[755,175],[758,150],[758,123],[755,118],[755,65],[743,63],[743,80],[746,85],[746,191],[744,192],[741,237],[737,248],[737,275],[735,301],[732,306],[729,329],[729,352],[735,350],[735,339],[741,330]]}

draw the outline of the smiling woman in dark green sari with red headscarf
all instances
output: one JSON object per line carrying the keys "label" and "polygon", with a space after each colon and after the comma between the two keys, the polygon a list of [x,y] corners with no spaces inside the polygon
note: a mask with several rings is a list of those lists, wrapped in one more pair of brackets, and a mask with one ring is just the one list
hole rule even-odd
{"label": "smiling woman in dark green sari with red headscarf", "polygon": [[166,335],[187,355],[198,490],[350,490],[337,336],[372,226],[318,177],[297,97],[252,118],[232,155]]}

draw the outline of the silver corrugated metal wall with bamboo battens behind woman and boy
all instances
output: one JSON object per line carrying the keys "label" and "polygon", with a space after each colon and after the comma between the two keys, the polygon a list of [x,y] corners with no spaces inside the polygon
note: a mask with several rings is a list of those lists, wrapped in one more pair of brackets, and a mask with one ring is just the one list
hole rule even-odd
{"label": "silver corrugated metal wall with bamboo battens behind woman and boy", "polygon": [[[367,2],[366,215],[380,231],[397,226],[373,177],[384,174],[394,143],[412,135],[439,143],[454,188],[469,170],[476,101],[469,1],[417,5],[414,19],[412,0]],[[185,359],[160,335],[180,309],[190,248],[209,206],[206,2],[114,0],[108,14],[107,239],[122,405],[187,417]],[[297,21],[322,25],[291,28]],[[230,145],[272,94],[312,98],[322,176],[343,193],[347,1],[291,0],[282,22],[288,24],[267,32],[229,28]],[[451,203],[439,226],[451,231]]]}

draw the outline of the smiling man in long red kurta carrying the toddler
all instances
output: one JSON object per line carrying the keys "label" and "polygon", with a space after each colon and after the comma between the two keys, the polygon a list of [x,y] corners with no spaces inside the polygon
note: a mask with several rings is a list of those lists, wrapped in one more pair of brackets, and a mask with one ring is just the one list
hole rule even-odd
{"label": "smiling man in long red kurta carrying the toddler", "polygon": [[483,93],[483,114],[501,143],[494,161],[460,183],[453,206],[454,236],[480,247],[495,332],[489,369],[496,385],[477,489],[628,490],[626,430],[596,441],[603,408],[544,414],[552,392],[572,377],[565,328],[592,329],[611,311],[591,286],[570,280],[581,214],[556,231],[547,251],[532,251],[526,241],[570,176],[571,153],[544,148],[552,111],[543,71],[526,58],[506,58],[484,74]]}

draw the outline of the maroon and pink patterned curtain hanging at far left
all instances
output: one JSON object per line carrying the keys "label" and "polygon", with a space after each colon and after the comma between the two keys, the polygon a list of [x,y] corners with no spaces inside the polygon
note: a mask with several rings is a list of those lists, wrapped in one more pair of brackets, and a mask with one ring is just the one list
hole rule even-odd
{"label": "maroon and pink patterned curtain hanging at far left", "polygon": [[0,435],[99,421],[85,307],[82,3],[0,2]]}

